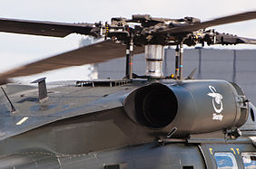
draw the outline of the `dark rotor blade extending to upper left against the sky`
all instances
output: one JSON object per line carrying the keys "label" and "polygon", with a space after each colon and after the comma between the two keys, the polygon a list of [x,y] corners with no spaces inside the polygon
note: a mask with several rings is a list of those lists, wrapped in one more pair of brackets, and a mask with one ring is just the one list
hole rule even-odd
{"label": "dark rotor blade extending to upper left against the sky", "polygon": [[0,32],[64,37],[70,33],[94,35],[92,23],[54,23],[0,18]]}

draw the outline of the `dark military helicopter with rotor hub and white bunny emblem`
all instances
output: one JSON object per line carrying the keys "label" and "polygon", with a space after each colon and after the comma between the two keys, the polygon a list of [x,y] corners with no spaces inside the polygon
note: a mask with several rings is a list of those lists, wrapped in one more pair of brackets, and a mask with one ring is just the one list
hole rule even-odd
{"label": "dark military helicopter with rotor hub and white bunny emblem", "polygon": [[[0,74],[1,168],[255,168],[256,108],[226,80],[182,74],[183,45],[256,44],[207,29],[255,19],[256,11],[201,22],[194,17],[134,14],[111,23],[54,23],[0,18],[0,31],[103,41]],[[176,46],[175,69],[162,75],[164,46]],[[145,52],[145,75],[133,54]],[[51,86],[12,78],[126,56],[122,80]]]}

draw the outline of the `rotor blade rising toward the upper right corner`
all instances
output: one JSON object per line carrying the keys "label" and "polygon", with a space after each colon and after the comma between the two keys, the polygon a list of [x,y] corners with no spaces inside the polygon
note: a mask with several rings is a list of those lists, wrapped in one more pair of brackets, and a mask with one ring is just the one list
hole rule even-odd
{"label": "rotor blade rising toward the upper right corner", "polygon": [[247,13],[233,14],[230,16],[225,16],[225,17],[213,19],[211,21],[206,21],[202,23],[194,23],[190,25],[184,25],[181,27],[169,28],[167,30],[159,31],[158,33],[191,33],[193,31],[205,29],[210,26],[216,26],[216,25],[226,24],[226,23],[236,23],[236,22],[251,20],[255,18],[256,18],[256,11],[251,11]]}

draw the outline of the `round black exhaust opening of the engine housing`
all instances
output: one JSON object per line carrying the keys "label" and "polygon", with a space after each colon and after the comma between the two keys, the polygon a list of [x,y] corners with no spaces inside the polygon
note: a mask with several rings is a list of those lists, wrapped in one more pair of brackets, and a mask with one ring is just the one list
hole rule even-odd
{"label": "round black exhaust opening of the engine housing", "polygon": [[168,126],[176,116],[177,109],[174,93],[160,83],[136,89],[124,102],[124,110],[134,122],[151,128]]}

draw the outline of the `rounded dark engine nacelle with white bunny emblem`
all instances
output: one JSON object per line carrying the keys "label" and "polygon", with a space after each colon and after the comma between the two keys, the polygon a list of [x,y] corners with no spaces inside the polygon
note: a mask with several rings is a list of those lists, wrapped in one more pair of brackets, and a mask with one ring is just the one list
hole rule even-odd
{"label": "rounded dark engine nacelle with white bunny emblem", "polygon": [[176,127],[182,135],[241,127],[248,117],[244,93],[224,80],[153,83],[135,89],[125,99],[124,110],[143,127]]}

